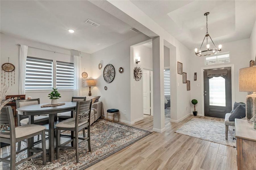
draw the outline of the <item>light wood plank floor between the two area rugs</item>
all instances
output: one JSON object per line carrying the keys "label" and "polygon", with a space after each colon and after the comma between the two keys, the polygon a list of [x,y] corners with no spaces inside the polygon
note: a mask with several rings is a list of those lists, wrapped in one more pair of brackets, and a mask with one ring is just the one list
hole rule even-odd
{"label": "light wood plank floor between the two area rugs", "polygon": [[[165,132],[153,132],[88,169],[237,170],[236,149],[231,146],[174,133],[193,117],[191,115],[179,123],[170,122],[170,118],[165,118]],[[206,116],[197,116],[197,118],[224,121]],[[153,116],[146,116],[144,120],[132,126],[152,131]]]}

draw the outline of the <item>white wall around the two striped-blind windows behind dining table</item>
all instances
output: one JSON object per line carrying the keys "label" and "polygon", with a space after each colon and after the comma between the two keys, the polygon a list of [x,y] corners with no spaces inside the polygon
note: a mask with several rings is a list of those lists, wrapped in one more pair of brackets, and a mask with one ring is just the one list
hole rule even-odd
{"label": "white wall around the two striped-blind windows behind dining table", "polygon": [[[17,95],[18,94],[18,84],[19,84],[19,65],[18,65],[18,54],[19,54],[19,46],[17,44],[24,44],[27,46],[32,46],[36,48],[43,48],[46,50],[53,50],[57,52],[62,52],[66,54],[71,54],[72,50],[61,48],[57,46],[52,46],[49,44],[31,41],[28,39],[23,39],[20,37],[14,37],[11,35],[6,35],[4,33],[0,34],[1,37],[1,65],[3,63],[8,62],[8,57],[10,57],[9,62],[14,64],[15,66],[15,84],[11,87],[11,91],[9,92],[9,95]],[[84,71],[84,68],[86,68],[86,72],[88,73],[88,77],[91,75],[91,58],[90,54],[79,52],[79,54],[82,56],[82,71]],[[53,52],[48,52],[44,50],[38,50],[34,48],[28,48],[28,56],[31,57],[38,57],[38,58],[45,58],[45,59],[52,59],[53,60],[53,66],[56,65],[56,60],[58,61],[64,61],[64,62],[73,62],[73,57]],[[54,72],[53,72],[53,75]],[[55,80],[55,78],[53,78]],[[54,81],[55,82],[55,81]],[[53,83],[53,86],[55,86],[55,83]],[[32,98],[40,98],[41,103],[49,103],[50,99],[47,97],[50,90],[44,92],[26,92],[26,97],[31,96]],[[85,95],[88,93],[88,88],[83,88],[82,94]],[[59,99],[60,102],[62,101],[71,101],[71,97],[73,96],[73,91],[67,91],[67,90],[60,90],[61,98]]]}

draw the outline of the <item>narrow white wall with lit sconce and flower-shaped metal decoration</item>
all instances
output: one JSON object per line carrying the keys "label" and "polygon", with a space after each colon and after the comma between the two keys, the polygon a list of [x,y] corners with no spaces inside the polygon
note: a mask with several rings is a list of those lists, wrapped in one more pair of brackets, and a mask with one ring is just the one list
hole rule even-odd
{"label": "narrow white wall with lit sconce and flower-shaped metal decoration", "polygon": [[[136,57],[140,56],[138,64],[135,63]],[[132,70],[134,67],[153,70],[152,48],[147,48],[143,45],[133,47],[133,62],[131,63]],[[131,82],[131,121],[136,122],[143,119],[143,76],[140,81],[136,81],[132,76]]]}

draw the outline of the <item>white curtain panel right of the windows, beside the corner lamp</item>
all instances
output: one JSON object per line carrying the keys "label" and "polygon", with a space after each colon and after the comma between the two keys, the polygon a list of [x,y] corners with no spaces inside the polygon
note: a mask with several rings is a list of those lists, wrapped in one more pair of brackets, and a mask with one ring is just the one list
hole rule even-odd
{"label": "white curtain panel right of the windows, beside the corner lamp", "polygon": [[74,97],[82,96],[81,56],[74,56]]}

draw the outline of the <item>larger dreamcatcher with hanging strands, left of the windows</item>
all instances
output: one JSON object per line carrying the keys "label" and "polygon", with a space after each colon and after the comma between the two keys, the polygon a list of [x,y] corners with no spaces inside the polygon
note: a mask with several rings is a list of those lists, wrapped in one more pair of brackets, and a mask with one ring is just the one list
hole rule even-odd
{"label": "larger dreamcatcher with hanging strands, left of the windows", "polygon": [[[1,81],[2,81],[2,84],[5,81],[8,81],[8,84],[10,84],[10,81],[11,81],[11,86],[12,86],[13,84],[15,84],[15,66],[12,63],[9,63],[9,58],[10,57],[8,57],[8,63],[4,63],[2,65]],[[6,72],[8,73],[8,77]],[[11,78],[10,78],[10,73],[11,73]],[[3,78],[4,78],[4,81],[3,81]]]}

